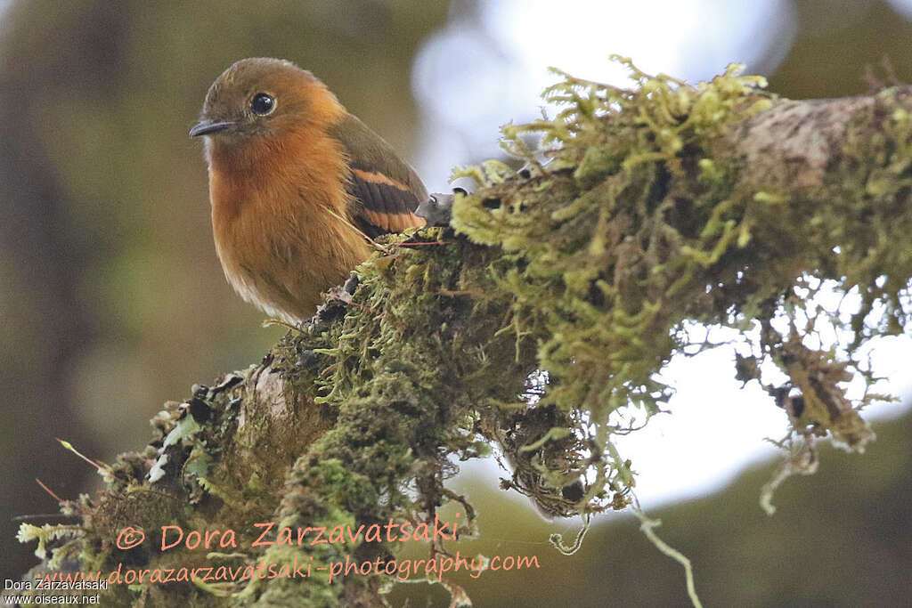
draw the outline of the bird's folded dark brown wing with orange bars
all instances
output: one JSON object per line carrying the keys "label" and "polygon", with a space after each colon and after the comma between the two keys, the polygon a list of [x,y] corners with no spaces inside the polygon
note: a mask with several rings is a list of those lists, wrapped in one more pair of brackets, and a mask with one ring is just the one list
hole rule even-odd
{"label": "bird's folded dark brown wing with orange bars", "polygon": [[342,143],[348,157],[350,212],[358,228],[374,237],[424,225],[414,211],[428,198],[428,191],[392,146],[351,114],[329,133]]}

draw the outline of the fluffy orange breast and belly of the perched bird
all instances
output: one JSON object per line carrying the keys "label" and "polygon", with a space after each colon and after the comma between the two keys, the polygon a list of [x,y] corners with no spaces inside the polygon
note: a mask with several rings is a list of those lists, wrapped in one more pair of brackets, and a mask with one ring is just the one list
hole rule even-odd
{"label": "fluffy orange breast and belly of the perched bird", "polygon": [[212,232],[225,276],[266,314],[298,322],[370,250],[347,217],[346,160],[303,125],[281,141],[213,149]]}

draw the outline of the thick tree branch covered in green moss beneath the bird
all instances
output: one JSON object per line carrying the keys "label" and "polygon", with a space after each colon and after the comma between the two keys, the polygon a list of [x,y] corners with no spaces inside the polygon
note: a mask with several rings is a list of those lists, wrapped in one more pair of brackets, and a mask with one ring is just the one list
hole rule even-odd
{"label": "thick tree branch covered in green moss beneath the bird", "polygon": [[[737,330],[737,376],[791,423],[790,472],[815,465],[815,438],[863,450],[876,396],[851,399],[845,381],[871,380],[859,347],[909,313],[912,88],[790,101],[735,68],[697,87],[630,68],[629,89],[562,74],[545,93],[563,104],[554,119],[504,129],[522,170],[461,171],[480,187],[456,196],[451,226],[391,239],[261,365],[170,404],[100,497],[65,504],[78,528],[28,531],[42,557],[47,542],[54,565],[82,570],[385,563],[395,543],[363,538],[208,555],[112,541],[127,526],[433,522],[453,501],[465,536],[471,501],[446,480],[453,457],[492,447],[514,470],[504,488],[550,516],[625,509],[635,476],[614,438],[668,399],[672,356],[713,346],[695,325]],[[376,605],[391,580],[121,584],[106,605]]]}

